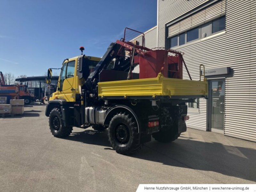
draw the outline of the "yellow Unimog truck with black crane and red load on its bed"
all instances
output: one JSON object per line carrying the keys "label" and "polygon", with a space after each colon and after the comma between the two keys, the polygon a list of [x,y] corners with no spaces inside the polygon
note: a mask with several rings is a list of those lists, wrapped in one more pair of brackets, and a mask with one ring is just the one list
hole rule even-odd
{"label": "yellow Unimog truck with black crane and red load on its bed", "polygon": [[[63,61],[45,111],[54,137],[67,137],[72,127],[108,128],[113,149],[130,154],[151,136],[170,142],[186,132],[186,103],[207,98],[205,78],[182,79],[183,65],[188,69],[181,52],[148,49],[144,34],[129,28],[124,34],[102,58],[85,56],[80,47],[81,56]],[[132,72],[137,65],[139,74]],[[46,83],[51,74],[48,69]]]}

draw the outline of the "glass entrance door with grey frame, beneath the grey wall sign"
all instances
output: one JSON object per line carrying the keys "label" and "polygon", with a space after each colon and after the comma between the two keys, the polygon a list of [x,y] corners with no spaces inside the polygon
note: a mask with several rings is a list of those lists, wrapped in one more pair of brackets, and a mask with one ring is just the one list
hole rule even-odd
{"label": "glass entrance door with grey frame, beneath the grey wall sign", "polygon": [[224,133],[225,79],[210,80],[210,89],[210,129]]}

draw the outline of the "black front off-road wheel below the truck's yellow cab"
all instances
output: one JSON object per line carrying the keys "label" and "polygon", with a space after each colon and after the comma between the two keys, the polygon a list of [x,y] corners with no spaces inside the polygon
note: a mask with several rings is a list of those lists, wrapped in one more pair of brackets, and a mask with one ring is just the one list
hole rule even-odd
{"label": "black front off-road wheel below the truck's yellow cab", "polygon": [[62,113],[59,108],[53,108],[49,115],[49,126],[54,137],[63,138],[70,135],[73,128],[64,126],[62,120]]}

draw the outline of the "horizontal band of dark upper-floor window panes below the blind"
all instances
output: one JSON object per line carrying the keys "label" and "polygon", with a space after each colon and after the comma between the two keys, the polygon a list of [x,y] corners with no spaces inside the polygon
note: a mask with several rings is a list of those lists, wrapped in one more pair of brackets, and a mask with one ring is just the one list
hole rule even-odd
{"label": "horizontal band of dark upper-floor window panes below the blind", "polygon": [[187,44],[196,39],[203,39],[212,34],[225,30],[226,16],[204,23],[196,28],[183,31],[175,36],[168,37],[168,48]]}

